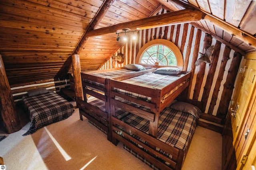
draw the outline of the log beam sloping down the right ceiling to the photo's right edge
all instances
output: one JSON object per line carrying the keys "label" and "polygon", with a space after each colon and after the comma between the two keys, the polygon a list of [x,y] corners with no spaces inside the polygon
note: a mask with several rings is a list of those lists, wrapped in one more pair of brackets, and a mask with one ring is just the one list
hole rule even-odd
{"label": "log beam sloping down the right ceiling to the photo's right edge", "polygon": [[[252,47],[256,48],[256,37],[254,37],[252,34],[247,33],[246,31],[243,31],[242,29],[239,29],[238,27],[235,27],[234,25],[208,13],[203,11],[202,9],[187,3],[187,2],[181,2],[179,0],[172,0],[172,2],[186,8],[186,9],[193,9],[193,10],[199,10],[205,14],[204,20],[210,21],[213,25],[216,27],[219,27],[220,29],[223,29],[227,33],[230,33],[230,35],[233,35],[237,37],[238,39],[244,41],[248,45],[252,45]],[[211,33],[213,35],[213,33]]]}

